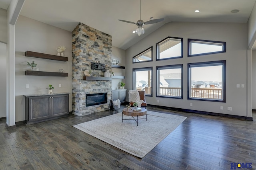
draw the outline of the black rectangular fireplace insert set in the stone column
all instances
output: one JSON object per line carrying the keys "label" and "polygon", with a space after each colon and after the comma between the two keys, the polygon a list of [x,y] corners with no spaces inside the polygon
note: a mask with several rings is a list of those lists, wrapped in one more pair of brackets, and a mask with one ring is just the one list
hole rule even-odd
{"label": "black rectangular fireplace insert set in the stone column", "polygon": [[107,96],[108,93],[86,94],[86,106],[105,104],[108,102]]}

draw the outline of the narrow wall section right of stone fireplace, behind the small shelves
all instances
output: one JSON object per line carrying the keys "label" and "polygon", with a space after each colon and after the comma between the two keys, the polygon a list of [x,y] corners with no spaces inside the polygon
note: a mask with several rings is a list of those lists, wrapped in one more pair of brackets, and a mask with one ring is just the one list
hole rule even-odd
{"label": "narrow wall section right of stone fireplace, behind the small shelves", "polygon": [[[119,60],[119,65],[125,66],[125,50],[113,46],[112,59]],[[125,76],[126,69],[112,68],[112,71],[114,72],[115,76]],[[112,79],[112,90],[118,89],[121,81],[125,83],[125,79]]]}

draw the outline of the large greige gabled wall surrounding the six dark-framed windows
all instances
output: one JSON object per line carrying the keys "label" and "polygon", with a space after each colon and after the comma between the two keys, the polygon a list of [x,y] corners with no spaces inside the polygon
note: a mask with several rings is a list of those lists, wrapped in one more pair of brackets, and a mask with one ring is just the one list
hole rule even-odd
{"label": "large greige gabled wall surrounding the six dark-framed windows", "polygon": [[[183,58],[156,61],[156,43],[168,36],[183,38]],[[132,89],[132,68],[153,66],[153,97],[146,97],[148,104],[246,116],[246,88],[236,88],[236,84],[246,87],[247,36],[246,23],[167,23],[126,50],[126,88]],[[225,41],[226,53],[187,57],[188,38]],[[153,46],[153,61],[132,64],[132,57],[150,46]],[[219,60],[226,60],[226,103],[188,100],[187,64]],[[156,98],[156,66],[172,64],[183,64],[183,99]],[[220,110],[220,106],[224,109]],[[232,107],[232,111],[227,107]]]}

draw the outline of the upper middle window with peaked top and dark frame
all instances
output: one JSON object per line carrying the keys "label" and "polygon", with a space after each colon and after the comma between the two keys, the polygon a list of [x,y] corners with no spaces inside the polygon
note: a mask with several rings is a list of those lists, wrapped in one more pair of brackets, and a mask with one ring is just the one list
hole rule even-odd
{"label": "upper middle window with peaked top and dark frame", "polygon": [[167,37],[156,44],[156,60],[182,58],[182,38]]}

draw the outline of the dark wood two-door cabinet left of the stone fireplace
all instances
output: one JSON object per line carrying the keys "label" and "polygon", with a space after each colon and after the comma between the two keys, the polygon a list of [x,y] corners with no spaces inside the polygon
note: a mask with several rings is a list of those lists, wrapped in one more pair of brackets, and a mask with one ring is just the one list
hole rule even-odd
{"label": "dark wood two-door cabinet left of the stone fireplace", "polygon": [[66,117],[69,114],[69,94],[24,96],[27,125]]}

